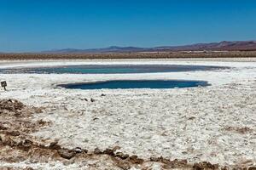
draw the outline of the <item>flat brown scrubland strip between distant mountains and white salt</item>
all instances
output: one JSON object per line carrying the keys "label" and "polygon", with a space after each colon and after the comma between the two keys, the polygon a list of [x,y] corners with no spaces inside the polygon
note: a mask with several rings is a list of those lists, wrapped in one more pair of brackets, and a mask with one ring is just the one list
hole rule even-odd
{"label": "flat brown scrubland strip between distant mountains and white salt", "polygon": [[211,53],[160,52],[113,54],[0,54],[0,60],[15,59],[181,59],[181,58],[254,58],[256,51]]}

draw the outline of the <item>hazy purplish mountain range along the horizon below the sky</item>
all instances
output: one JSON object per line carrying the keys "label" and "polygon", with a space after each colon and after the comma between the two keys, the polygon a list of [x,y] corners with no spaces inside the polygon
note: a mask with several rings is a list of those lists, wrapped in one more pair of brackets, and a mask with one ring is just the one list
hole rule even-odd
{"label": "hazy purplish mountain range along the horizon below the sky", "polygon": [[90,49],[54,49],[43,51],[49,54],[83,54],[83,53],[129,53],[129,52],[161,52],[161,51],[256,51],[256,41],[236,41],[236,42],[212,42],[196,43],[183,46],[163,46],[155,48],[137,48],[137,47],[117,47],[109,48],[90,48]]}

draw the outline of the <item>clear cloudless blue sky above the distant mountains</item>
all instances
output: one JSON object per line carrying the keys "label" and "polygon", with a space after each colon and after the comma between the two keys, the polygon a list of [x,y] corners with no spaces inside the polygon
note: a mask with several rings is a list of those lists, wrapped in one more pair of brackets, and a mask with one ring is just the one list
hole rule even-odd
{"label": "clear cloudless blue sky above the distant mountains", "polygon": [[256,40],[254,0],[0,0],[0,51]]}

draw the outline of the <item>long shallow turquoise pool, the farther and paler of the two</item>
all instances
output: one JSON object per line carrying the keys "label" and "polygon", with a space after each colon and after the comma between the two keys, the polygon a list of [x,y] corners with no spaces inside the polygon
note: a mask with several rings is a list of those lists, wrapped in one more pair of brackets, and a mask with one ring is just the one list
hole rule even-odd
{"label": "long shallow turquoise pool, the farther and paler of the two", "polygon": [[1,69],[2,73],[37,73],[37,74],[117,74],[117,73],[151,73],[179,71],[209,71],[225,69],[205,65],[68,65],[35,68]]}

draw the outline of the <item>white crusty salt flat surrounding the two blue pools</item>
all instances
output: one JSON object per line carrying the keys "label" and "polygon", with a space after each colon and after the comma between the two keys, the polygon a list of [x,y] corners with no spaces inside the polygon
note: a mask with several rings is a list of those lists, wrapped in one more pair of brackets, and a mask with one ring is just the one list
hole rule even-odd
{"label": "white crusty salt flat surrounding the two blue pools", "polygon": [[[119,145],[143,158],[165,156],[222,166],[256,166],[256,59],[15,61],[1,68],[82,64],[230,66],[228,70],[143,74],[1,74],[1,99],[44,106],[32,119],[52,122],[33,136],[67,148]],[[205,88],[79,90],[57,84],[125,79],[208,81]],[[106,94],[106,96],[102,96]],[[95,99],[90,102],[90,99]],[[88,100],[88,101],[86,101]]]}

